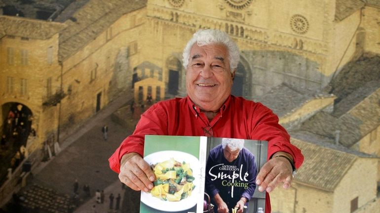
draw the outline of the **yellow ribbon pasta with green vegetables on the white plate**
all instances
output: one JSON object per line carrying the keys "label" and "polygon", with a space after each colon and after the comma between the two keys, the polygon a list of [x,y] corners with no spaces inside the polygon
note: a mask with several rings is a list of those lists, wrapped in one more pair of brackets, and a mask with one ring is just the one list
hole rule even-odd
{"label": "yellow ribbon pasta with green vegetables on the white plate", "polygon": [[191,195],[195,185],[190,164],[170,158],[152,164],[151,168],[156,176],[151,190],[152,196],[164,201],[180,201]]}

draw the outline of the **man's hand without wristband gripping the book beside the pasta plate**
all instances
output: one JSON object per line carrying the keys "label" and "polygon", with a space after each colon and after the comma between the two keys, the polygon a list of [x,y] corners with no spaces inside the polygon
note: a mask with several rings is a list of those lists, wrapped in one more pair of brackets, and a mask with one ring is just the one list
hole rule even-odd
{"label": "man's hand without wristband gripping the book beside the pasta plate", "polygon": [[148,192],[153,188],[155,177],[149,164],[139,154],[131,152],[121,158],[119,179],[133,190]]}

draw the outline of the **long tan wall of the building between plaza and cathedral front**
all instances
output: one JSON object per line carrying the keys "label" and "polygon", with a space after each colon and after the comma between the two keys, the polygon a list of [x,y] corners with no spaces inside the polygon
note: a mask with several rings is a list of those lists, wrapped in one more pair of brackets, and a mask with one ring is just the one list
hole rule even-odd
{"label": "long tan wall of the building between plaza and cathedral front", "polygon": [[79,127],[119,92],[131,88],[131,67],[139,63],[140,43],[137,42],[133,54],[127,51],[131,43],[139,41],[142,34],[139,17],[143,16],[144,10],[124,15],[63,62],[63,85],[68,93],[62,101],[65,110],[61,112],[61,125],[64,129],[73,128],[73,125]]}

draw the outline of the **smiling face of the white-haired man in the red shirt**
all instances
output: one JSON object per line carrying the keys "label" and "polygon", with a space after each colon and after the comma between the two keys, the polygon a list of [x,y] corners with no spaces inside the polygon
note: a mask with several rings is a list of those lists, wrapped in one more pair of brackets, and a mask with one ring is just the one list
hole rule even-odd
{"label": "smiling face of the white-haired man in the red shirt", "polygon": [[232,88],[228,51],[223,44],[191,47],[186,89],[195,105],[206,111],[220,109]]}

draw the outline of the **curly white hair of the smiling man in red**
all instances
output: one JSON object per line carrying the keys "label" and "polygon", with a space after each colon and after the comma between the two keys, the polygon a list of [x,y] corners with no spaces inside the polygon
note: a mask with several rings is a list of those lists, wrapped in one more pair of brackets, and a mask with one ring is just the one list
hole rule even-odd
{"label": "curly white hair of the smiling man in red", "polygon": [[237,47],[237,44],[228,36],[226,32],[220,30],[198,30],[196,33],[194,33],[188,44],[186,44],[184,52],[182,53],[183,65],[185,68],[188,67],[190,50],[194,43],[196,43],[198,46],[214,43],[224,44],[228,50],[230,72],[233,73],[233,71],[235,71],[237,68],[237,64],[239,63],[240,59],[239,47]]}

